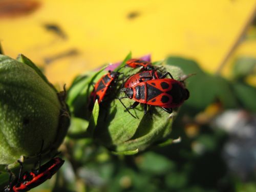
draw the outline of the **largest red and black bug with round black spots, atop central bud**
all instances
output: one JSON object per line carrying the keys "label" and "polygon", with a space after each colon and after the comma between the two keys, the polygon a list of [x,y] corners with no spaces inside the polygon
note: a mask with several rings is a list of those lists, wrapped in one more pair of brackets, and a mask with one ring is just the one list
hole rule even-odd
{"label": "largest red and black bug with round black spots, atop central bud", "polygon": [[[167,75],[170,75],[170,73],[164,72],[159,79],[147,81],[140,79],[141,82],[127,88],[122,88],[120,91],[124,92],[126,96],[119,97],[118,99],[124,106],[125,111],[131,114],[129,109],[135,108],[139,103],[144,103],[144,114],[147,113],[147,105],[160,106],[167,113],[172,113],[172,108],[180,106],[188,99],[189,92],[183,83],[173,79],[172,75],[170,75],[172,79],[165,79]],[[124,98],[133,99],[135,102],[127,108],[121,101]],[[135,117],[134,115],[132,116]]]}

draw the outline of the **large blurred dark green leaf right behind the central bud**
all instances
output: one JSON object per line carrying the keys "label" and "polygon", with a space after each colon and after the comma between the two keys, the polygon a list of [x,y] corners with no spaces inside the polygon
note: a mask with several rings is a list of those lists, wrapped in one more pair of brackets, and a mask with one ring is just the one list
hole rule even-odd
{"label": "large blurred dark green leaf right behind the central bud", "polygon": [[167,58],[166,65],[180,67],[187,75],[196,74],[186,79],[190,96],[185,103],[197,109],[197,112],[204,110],[206,106],[217,99],[220,99],[225,108],[237,107],[237,100],[230,83],[221,76],[206,74],[195,61],[180,57]]}

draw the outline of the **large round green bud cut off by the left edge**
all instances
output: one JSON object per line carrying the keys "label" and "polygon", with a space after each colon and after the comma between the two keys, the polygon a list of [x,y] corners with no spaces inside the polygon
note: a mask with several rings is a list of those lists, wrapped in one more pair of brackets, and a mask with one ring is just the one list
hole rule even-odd
{"label": "large round green bud cut off by the left edge", "polygon": [[69,126],[63,100],[24,55],[0,55],[0,164],[54,151]]}

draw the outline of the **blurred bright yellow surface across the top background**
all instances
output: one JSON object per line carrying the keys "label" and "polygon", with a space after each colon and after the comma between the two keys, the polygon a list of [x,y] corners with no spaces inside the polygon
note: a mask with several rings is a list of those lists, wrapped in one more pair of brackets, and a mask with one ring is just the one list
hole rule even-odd
{"label": "blurred bright yellow surface across the top background", "polygon": [[68,85],[75,75],[119,61],[130,51],[138,57],[150,53],[153,60],[194,58],[214,73],[256,7],[255,0],[32,2],[39,4],[30,14],[0,14],[3,50],[11,57],[23,53],[45,66],[51,82]]}

